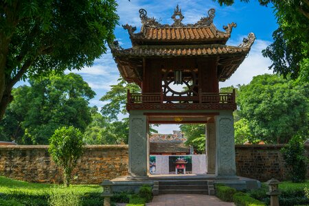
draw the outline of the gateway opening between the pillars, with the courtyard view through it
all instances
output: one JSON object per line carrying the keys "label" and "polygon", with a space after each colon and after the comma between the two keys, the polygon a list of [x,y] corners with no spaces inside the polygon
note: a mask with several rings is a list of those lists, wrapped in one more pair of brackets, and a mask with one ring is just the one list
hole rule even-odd
{"label": "gateway opening between the pillars, with the courtyard view through it", "polygon": [[[170,124],[149,125],[148,173],[151,176],[191,176],[207,173],[205,151],[207,121],[193,122],[192,119],[184,121],[183,118],[174,117],[173,121],[180,121],[179,124],[170,120]],[[192,138],[188,139],[188,135],[191,137],[198,135],[199,138],[194,138],[196,140],[192,142]]]}

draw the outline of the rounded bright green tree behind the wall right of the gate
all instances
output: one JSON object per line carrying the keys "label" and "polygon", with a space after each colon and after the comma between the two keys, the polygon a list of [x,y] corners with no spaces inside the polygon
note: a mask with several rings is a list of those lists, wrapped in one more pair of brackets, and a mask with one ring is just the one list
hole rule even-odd
{"label": "rounded bright green tree behind the wall right of the gate", "polygon": [[255,76],[240,87],[240,117],[248,120],[254,137],[286,143],[299,133],[308,135],[309,84],[297,85],[277,75]]}

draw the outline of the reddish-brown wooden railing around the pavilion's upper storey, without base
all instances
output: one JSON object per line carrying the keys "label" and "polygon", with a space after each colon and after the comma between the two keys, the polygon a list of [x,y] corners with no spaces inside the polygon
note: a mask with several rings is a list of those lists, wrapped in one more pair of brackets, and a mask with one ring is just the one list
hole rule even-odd
{"label": "reddish-brown wooden railing around the pavilion's upper storey, without base", "polygon": [[163,93],[130,93],[128,90],[128,104],[135,103],[165,103],[165,102],[192,102],[192,103],[236,103],[235,90],[232,93],[202,93],[198,96],[164,96]]}

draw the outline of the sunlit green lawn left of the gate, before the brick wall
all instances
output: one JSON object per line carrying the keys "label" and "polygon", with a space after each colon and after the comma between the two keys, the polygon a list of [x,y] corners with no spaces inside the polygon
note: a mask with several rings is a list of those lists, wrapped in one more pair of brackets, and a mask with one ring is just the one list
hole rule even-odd
{"label": "sunlit green lawn left of the gate, before the brick wall", "polygon": [[100,185],[27,183],[0,176],[0,205],[15,206],[96,206],[103,204]]}

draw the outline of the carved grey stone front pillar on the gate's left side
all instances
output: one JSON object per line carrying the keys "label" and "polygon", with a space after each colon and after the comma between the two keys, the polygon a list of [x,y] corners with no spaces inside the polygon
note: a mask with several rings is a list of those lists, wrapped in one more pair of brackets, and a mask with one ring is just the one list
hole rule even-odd
{"label": "carved grey stone front pillar on the gate's left side", "polygon": [[147,164],[147,119],[145,115],[129,117],[129,174],[132,177],[146,177]]}

